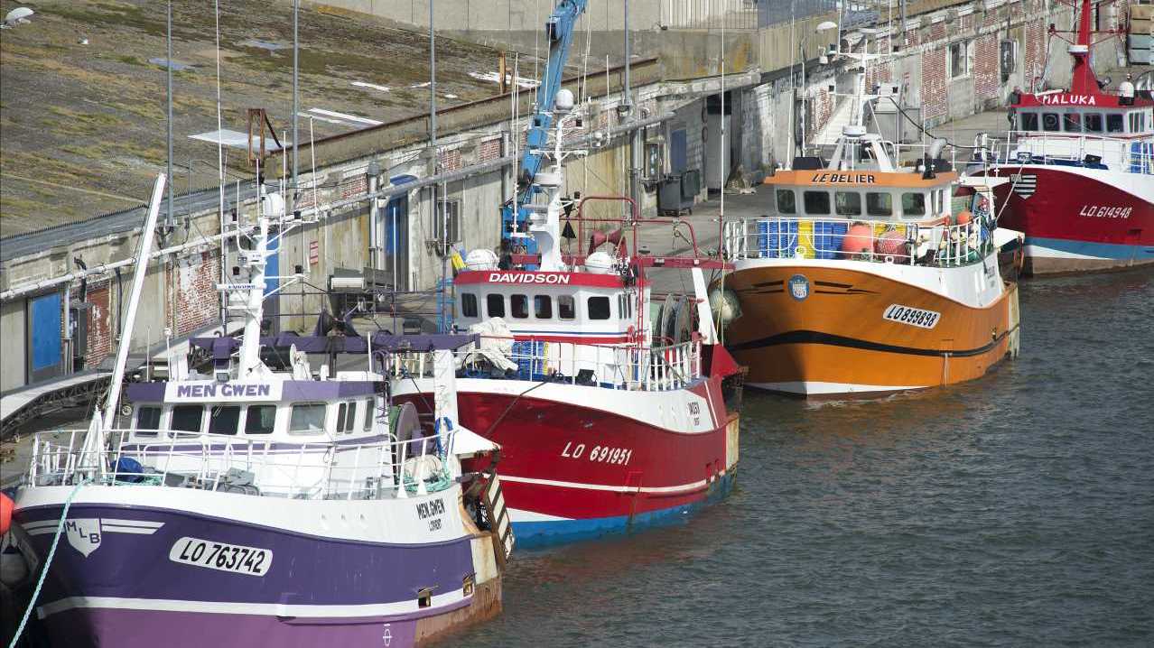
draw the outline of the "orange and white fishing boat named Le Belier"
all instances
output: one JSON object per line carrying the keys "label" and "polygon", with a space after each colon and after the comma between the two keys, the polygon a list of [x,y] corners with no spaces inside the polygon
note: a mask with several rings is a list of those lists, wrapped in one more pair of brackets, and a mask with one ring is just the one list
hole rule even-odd
{"label": "orange and white fishing boat named Le Belier", "polygon": [[[860,115],[876,97],[859,75]],[[1017,284],[998,265],[994,188],[856,125],[833,155],[765,180],[770,213],[725,223],[734,270],[714,295],[754,387],[877,395],[981,377],[1018,353]],[[935,152],[936,153],[936,152]]]}

